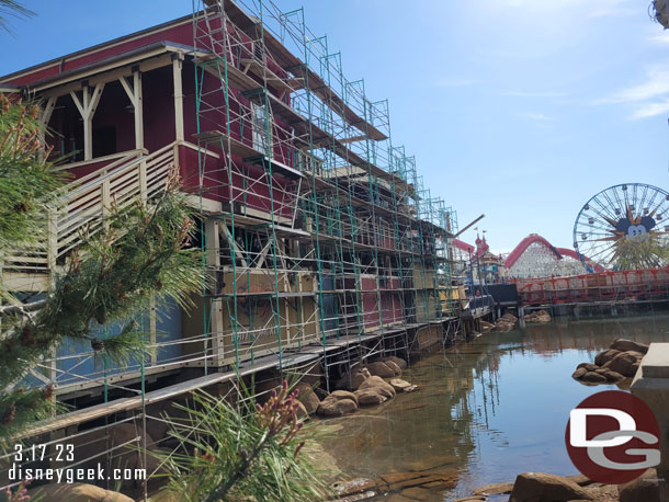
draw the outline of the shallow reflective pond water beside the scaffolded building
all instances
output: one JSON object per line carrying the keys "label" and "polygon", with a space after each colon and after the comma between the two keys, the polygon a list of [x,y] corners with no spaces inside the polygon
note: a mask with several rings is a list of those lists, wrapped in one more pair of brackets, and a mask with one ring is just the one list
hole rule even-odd
{"label": "shallow reflective pond water beside the scaffolded building", "polygon": [[[320,421],[320,440],[351,477],[439,471],[457,476],[444,500],[512,482],[525,471],[577,474],[564,443],[569,411],[593,392],[571,379],[616,338],[669,341],[669,316],[559,321],[491,333],[423,357],[402,378],[420,390]],[[628,381],[619,386],[625,389]]]}

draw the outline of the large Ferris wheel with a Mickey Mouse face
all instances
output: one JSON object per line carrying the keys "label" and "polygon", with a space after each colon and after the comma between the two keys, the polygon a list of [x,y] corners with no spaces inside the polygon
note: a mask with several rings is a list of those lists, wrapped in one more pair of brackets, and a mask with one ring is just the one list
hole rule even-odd
{"label": "large Ferris wheel with a Mickey Mouse face", "polygon": [[643,183],[594,195],[574,224],[574,249],[590,272],[667,264],[669,193]]}

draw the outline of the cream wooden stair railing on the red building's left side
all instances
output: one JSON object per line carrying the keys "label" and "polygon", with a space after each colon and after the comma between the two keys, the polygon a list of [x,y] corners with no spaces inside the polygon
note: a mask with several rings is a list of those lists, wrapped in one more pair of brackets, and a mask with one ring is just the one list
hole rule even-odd
{"label": "cream wooden stair railing on the red building's left side", "polygon": [[[100,229],[112,205],[123,208],[138,198],[146,201],[162,191],[170,167],[177,159],[175,142],[151,153],[131,150],[63,186],[45,217],[46,238],[2,256],[2,270],[29,274],[54,271],[60,263],[59,259],[81,242],[82,232],[91,235]],[[101,160],[104,159],[87,163]],[[79,162],[63,169],[82,166]]]}

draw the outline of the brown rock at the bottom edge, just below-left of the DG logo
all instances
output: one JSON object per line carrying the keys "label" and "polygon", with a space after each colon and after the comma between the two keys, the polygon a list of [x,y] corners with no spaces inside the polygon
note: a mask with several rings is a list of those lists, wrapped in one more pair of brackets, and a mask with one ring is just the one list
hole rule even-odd
{"label": "brown rock at the bottom edge, just below-left of the DG logo", "polygon": [[509,502],[592,500],[585,488],[560,476],[524,472],[515,478]]}

